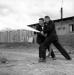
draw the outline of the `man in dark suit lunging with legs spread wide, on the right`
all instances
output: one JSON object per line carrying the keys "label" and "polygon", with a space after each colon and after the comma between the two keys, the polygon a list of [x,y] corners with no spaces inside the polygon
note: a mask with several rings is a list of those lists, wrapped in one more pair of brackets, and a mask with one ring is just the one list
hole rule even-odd
{"label": "man in dark suit lunging with legs spread wide, on the right", "polygon": [[48,46],[52,43],[54,46],[61,52],[61,54],[67,59],[71,60],[71,57],[68,55],[66,50],[60,45],[58,41],[58,36],[56,34],[55,30],[55,24],[53,21],[50,20],[49,16],[45,16],[45,29],[44,33],[47,34],[47,37],[43,41],[42,44],[40,44],[40,50],[42,50],[42,58],[45,61],[46,60],[46,49]]}

